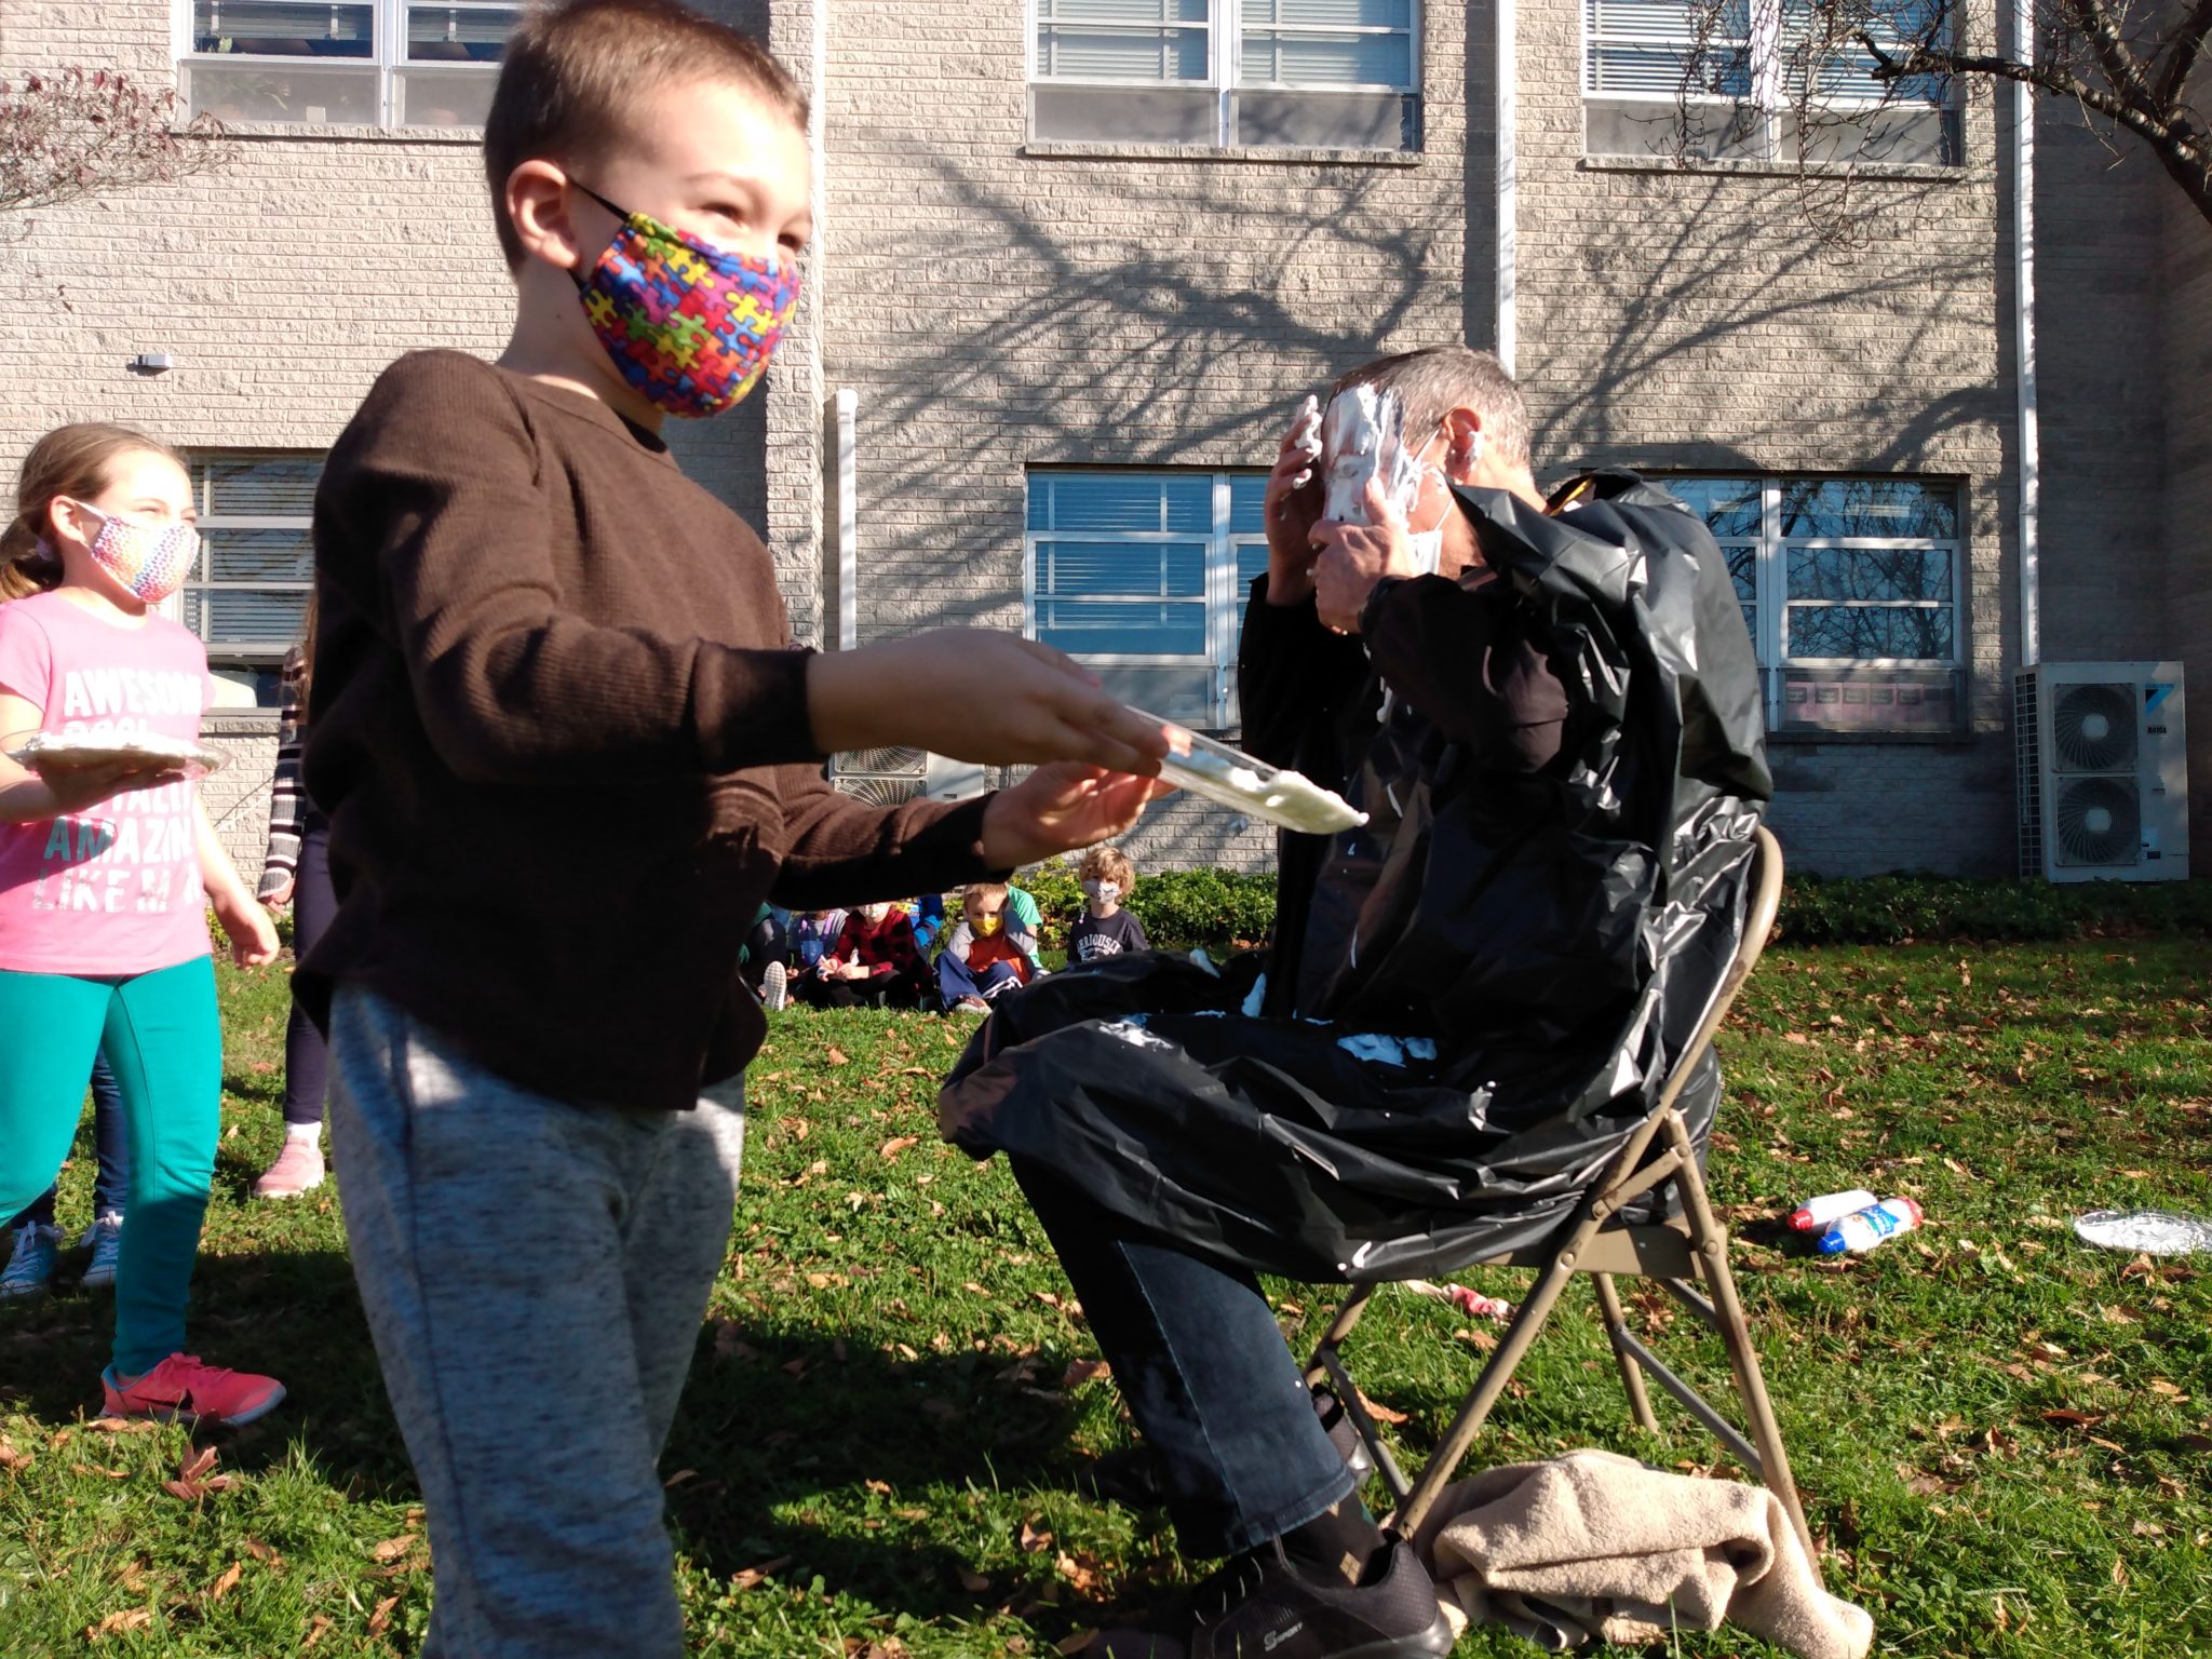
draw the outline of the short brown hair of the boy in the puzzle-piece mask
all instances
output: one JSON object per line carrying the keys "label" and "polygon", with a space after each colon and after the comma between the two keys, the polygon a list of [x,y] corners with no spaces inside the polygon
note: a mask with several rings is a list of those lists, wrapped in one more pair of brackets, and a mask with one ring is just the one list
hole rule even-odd
{"label": "short brown hair of the boy in the puzzle-piece mask", "polygon": [[768,46],[677,0],[555,0],[526,11],[507,38],[484,117],[491,223],[507,268],[522,268],[507,215],[507,177],[518,166],[597,161],[630,137],[644,95],[701,80],[737,82],[801,133],[807,126],[807,95]]}

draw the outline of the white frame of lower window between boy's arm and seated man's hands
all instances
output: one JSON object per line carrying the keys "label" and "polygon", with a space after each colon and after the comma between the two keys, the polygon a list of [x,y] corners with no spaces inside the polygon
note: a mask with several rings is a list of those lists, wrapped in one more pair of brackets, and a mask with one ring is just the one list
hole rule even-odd
{"label": "white frame of lower window between boy's arm and seated man's hands", "polygon": [[[1040,478],[1210,478],[1212,480],[1212,526],[1208,531],[1037,531],[1029,526],[1031,491]],[[1234,518],[1237,480],[1261,480],[1263,467],[1029,467],[1022,473],[1022,637],[1040,639],[1037,604],[1057,595],[1042,591],[1037,568],[1040,542],[1097,542],[1097,544],[1206,544],[1206,573],[1201,595],[1206,604],[1206,655],[1175,655],[1159,650],[1086,650],[1071,653],[1075,661],[1091,668],[1186,668],[1208,670],[1212,719],[1199,730],[1234,732],[1241,726],[1237,708],[1237,646],[1243,635],[1243,593],[1239,584],[1239,551],[1265,546],[1265,524],[1256,531],[1239,531]],[[1082,604],[1192,604],[1190,597],[1152,599],[1146,595],[1068,595]]]}

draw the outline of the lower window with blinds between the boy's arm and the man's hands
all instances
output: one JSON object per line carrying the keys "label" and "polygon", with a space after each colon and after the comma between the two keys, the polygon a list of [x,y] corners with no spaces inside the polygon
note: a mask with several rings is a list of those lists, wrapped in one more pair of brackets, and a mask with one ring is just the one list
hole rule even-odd
{"label": "lower window with blinds between the boy's arm and the man's hands", "polygon": [[1245,595],[1267,568],[1265,491],[1265,473],[1029,473],[1029,637],[1126,703],[1234,728]]}

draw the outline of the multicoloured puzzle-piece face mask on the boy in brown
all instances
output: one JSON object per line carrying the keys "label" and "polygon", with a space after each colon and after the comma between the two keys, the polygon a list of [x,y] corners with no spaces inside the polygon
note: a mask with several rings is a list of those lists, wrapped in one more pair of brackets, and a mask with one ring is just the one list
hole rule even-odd
{"label": "multicoloured puzzle-piece face mask on the boy in brown", "polygon": [[622,378],[672,416],[737,405],[799,310],[799,261],[734,254],[577,190],[622,215],[591,276],[568,272]]}

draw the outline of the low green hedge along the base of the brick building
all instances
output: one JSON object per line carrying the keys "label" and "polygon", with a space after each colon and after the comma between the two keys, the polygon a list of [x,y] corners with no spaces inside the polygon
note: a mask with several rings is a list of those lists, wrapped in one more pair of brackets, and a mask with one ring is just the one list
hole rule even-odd
{"label": "low green hedge along the base of the brick building", "polygon": [[[1020,878],[1044,911],[1044,945],[1062,949],[1082,914],[1073,865]],[[1274,925],[1274,876],[1228,869],[1139,874],[1128,907],[1159,949],[1212,951],[1261,942]],[[2068,940],[2104,933],[2212,933],[2212,880],[2042,883],[1958,876],[1805,876],[1783,891],[1781,936],[1794,945],[1907,940]]]}

